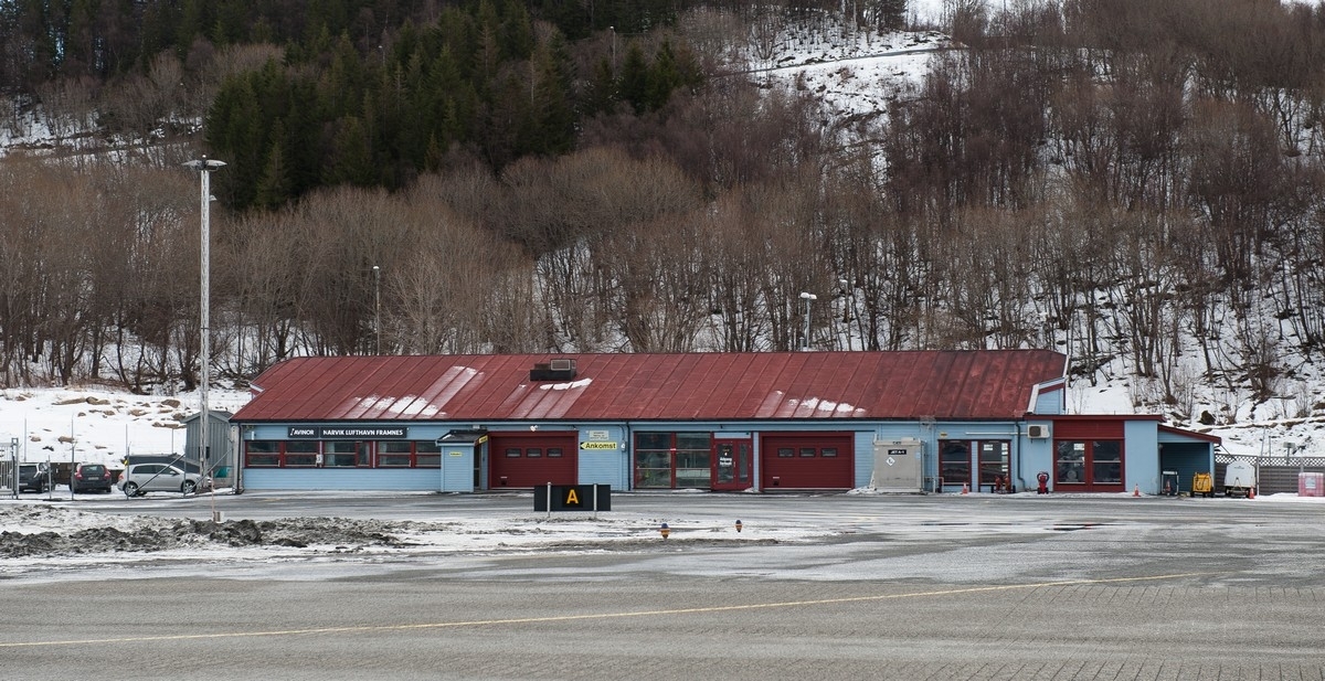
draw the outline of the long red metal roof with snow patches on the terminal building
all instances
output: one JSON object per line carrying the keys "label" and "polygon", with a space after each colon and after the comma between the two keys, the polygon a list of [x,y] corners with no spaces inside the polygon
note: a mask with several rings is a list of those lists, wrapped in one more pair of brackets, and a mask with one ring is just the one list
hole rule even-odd
{"label": "long red metal roof with snow patches on the terminal building", "polygon": [[[575,376],[530,380],[554,358]],[[233,420],[1015,419],[1064,368],[1048,350],[299,358]]]}

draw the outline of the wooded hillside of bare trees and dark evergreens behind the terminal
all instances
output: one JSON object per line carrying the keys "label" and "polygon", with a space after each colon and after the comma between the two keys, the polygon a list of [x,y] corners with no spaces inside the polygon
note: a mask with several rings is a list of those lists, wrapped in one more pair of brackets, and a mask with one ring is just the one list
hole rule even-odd
{"label": "wooded hillside of bare trees and dark evergreens behind the terminal", "polygon": [[[864,114],[770,66],[935,29]],[[196,387],[205,155],[231,383],[1051,347],[1179,420],[1320,399],[1322,5],[3,0],[0,94],[4,386]]]}

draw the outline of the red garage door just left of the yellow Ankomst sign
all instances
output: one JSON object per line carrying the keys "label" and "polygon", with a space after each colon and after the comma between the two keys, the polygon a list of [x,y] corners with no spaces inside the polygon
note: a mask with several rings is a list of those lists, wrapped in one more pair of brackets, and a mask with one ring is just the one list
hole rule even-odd
{"label": "red garage door just left of the yellow Ankomst sign", "polygon": [[578,433],[490,433],[489,486],[575,485]]}

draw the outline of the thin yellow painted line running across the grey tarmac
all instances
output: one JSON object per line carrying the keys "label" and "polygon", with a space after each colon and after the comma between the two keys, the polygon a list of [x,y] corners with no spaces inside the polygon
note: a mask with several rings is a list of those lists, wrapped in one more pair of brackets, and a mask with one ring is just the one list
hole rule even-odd
{"label": "thin yellow painted line running across the grey tarmac", "polygon": [[584,620],[611,620],[620,617],[657,617],[660,615],[698,615],[709,612],[735,612],[735,611],[754,611],[754,609],[770,609],[770,608],[799,608],[808,605],[832,605],[839,603],[869,603],[880,600],[897,600],[897,599],[914,599],[914,598],[930,598],[930,596],[953,596],[959,594],[987,594],[994,591],[1015,591],[1027,588],[1047,588],[1047,587],[1071,587],[1081,584],[1118,584],[1126,582],[1157,582],[1161,579],[1178,579],[1186,576],[1204,576],[1204,575],[1218,575],[1220,572],[1178,572],[1173,575],[1151,575],[1151,576],[1120,576],[1109,579],[1075,579],[1071,582],[1037,582],[1031,584],[1004,584],[992,587],[966,587],[966,588],[945,588],[939,591],[916,591],[909,594],[886,594],[874,596],[843,596],[836,599],[815,599],[815,600],[786,600],[775,603],[750,603],[745,605],[708,605],[702,608],[672,608],[672,609],[649,609],[649,611],[631,611],[631,612],[600,612],[594,615],[555,615],[547,617],[509,617],[501,620],[465,620],[465,621],[433,621],[433,623],[420,623],[420,624],[383,624],[372,627],[318,627],[309,629],[265,629],[253,632],[227,632],[227,633],[176,633],[176,635],[160,635],[160,636],[122,636],[114,639],[77,639],[77,640],[58,640],[58,641],[19,641],[7,643],[0,641],[0,649],[5,648],[42,648],[42,647],[57,647],[57,645],[89,645],[89,644],[117,644],[117,643],[155,643],[155,641],[196,641],[207,639],[245,639],[253,636],[307,636],[310,633],[362,633],[362,632],[388,632],[388,631],[409,631],[409,629],[453,629],[461,627],[492,627],[501,624],[546,624],[558,621],[584,621]]}

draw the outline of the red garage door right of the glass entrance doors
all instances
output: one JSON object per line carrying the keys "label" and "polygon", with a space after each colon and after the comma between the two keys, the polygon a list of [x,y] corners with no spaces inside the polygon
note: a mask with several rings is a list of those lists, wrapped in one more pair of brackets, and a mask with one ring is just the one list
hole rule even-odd
{"label": "red garage door right of the glass entrance doors", "polygon": [[856,486],[852,433],[778,433],[761,440],[762,489]]}

